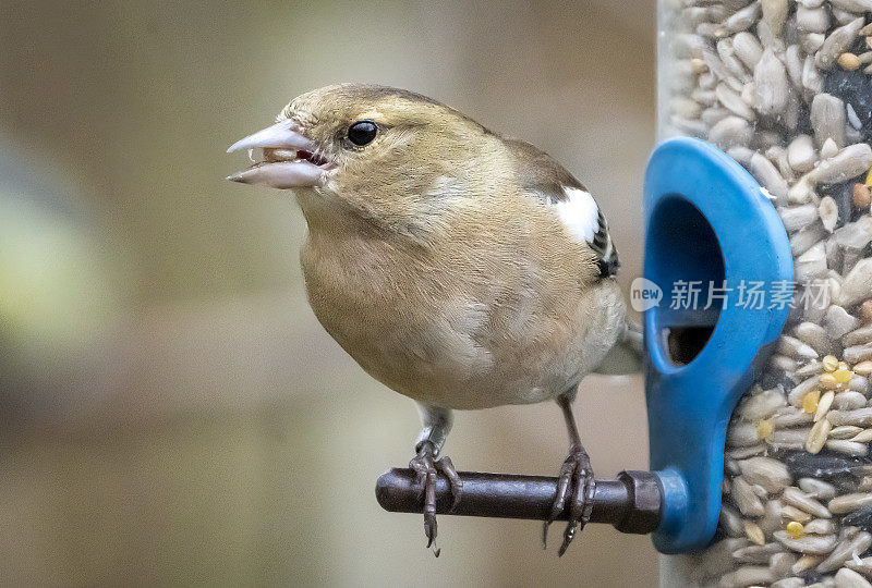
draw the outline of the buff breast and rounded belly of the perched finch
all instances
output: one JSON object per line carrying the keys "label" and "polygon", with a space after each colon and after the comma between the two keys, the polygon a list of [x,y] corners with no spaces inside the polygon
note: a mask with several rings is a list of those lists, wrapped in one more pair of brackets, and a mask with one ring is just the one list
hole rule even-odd
{"label": "buff breast and rounded belly of the perched finch", "polygon": [[483,408],[566,391],[622,328],[614,281],[584,286],[535,252],[313,232],[301,260],[315,315],[370,375],[422,402]]}

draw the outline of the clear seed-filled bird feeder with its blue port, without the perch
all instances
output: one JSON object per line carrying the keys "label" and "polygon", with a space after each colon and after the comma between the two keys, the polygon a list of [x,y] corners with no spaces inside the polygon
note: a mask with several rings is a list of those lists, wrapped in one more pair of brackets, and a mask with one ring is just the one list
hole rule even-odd
{"label": "clear seed-filled bird feeder with its blue port, without the perch", "polygon": [[870,11],[659,2],[645,277],[729,293],[645,314],[651,466],[695,495],[662,584],[870,586]]}

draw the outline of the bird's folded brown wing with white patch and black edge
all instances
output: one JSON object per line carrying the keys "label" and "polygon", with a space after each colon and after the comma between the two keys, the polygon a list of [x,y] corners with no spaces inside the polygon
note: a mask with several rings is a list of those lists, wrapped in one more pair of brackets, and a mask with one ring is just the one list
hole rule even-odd
{"label": "bird's folded brown wing with white patch and black edge", "polygon": [[608,224],[590,192],[562,166],[529,143],[506,139],[518,161],[518,182],[544,206],[554,207],[569,233],[588,243],[596,254],[602,277],[618,271],[618,252]]}

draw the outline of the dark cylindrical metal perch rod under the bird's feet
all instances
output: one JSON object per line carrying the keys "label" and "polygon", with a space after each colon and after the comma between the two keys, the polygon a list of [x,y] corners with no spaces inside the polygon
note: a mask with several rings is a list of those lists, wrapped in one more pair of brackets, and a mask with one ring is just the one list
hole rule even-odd
{"label": "dark cylindrical metal perch rod under the bird's feet", "polygon": [[[453,511],[448,481],[439,476],[436,513],[545,520],[557,493],[557,478],[460,471],[463,494]],[[616,480],[596,480],[591,523],[610,523],[621,532],[655,530],[661,518],[661,488],[650,471],[621,471]],[[423,512],[423,497],[411,469],[392,468],[375,486],[383,509],[393,513]],[[449,512],[450,511],[450,512]],[[569,509],[558,519],[566,520]]]}

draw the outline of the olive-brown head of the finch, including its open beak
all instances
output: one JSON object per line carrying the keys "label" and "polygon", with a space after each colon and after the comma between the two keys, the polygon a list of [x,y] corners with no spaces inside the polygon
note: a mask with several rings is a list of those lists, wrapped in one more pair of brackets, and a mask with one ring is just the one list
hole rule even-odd
{"label": "olive-brown head of the finch, including its open beak", "polygon": [[299,96],[233,144],[228,151],[263,149],[263,161],[229,180],[293,189],[304,211],[340,207],[414,232],[451,198],[498,181],[499,143],[425,96],[339,84]]}

